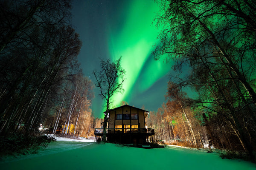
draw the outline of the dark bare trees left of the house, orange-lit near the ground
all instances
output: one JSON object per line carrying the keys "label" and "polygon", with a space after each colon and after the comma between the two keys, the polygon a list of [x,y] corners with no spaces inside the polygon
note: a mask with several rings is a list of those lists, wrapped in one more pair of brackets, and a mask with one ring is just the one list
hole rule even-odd
{"label": "dark bare trees left of the house, orange-lit near the ground", "polygon": [[29,147],[44,133],[92,136],[94,85],[77,59],[71,8],[70,0],[0,2],[1,148],[12,139]]}

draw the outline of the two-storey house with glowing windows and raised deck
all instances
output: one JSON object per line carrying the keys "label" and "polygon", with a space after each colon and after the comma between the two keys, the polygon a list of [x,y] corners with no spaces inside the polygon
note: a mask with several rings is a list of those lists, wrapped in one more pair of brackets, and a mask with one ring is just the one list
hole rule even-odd
{"label": "two-storey house with glowing windows and raised deck", "polygon": [[[123,105],[109,112],[107,141],[122,144],[133,144],[135,147],[152,142],[154,129],[148,128],[145,118],[148,111]],[[95,140],[102,136],[103,129],[94,130]]]}

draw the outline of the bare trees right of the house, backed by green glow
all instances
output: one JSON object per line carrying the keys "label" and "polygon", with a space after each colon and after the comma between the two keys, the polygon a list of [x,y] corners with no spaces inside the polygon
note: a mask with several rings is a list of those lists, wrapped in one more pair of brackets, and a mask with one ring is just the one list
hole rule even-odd
{"label": "bare trees right of the house, backed by green glow", "polygon": [[157,2],[161,31],[153,55],[175,62],[176,74],[169,76],[168,102],[148,118],[156,139],[199,147],[208,141],[246,151],[255,162],[256,2]]}

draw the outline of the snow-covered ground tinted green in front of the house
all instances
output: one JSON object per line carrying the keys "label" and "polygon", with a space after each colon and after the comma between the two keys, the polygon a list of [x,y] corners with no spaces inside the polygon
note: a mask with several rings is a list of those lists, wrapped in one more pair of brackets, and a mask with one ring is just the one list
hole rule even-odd
{"label": "snow-covered ground tinted green in front of the house", "polygon": [[[85,139],[84,139],[85,140]],[[57,138],[39,153],[5,159],[0,170],[256,170],[256,164],[221,159],[207,150],[167,146],[142,149]]]}

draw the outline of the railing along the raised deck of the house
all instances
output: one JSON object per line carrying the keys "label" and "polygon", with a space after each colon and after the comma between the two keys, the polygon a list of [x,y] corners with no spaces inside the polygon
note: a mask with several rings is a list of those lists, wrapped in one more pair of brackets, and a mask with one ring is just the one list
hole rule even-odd
{"label": "railing along the raised deck of the house", "polygon": [[[103,133],[103,128],[95,128],[94,134]],[[107,128],[107,133],[149,133],[154,135],[154,129],[151,128]]]}

